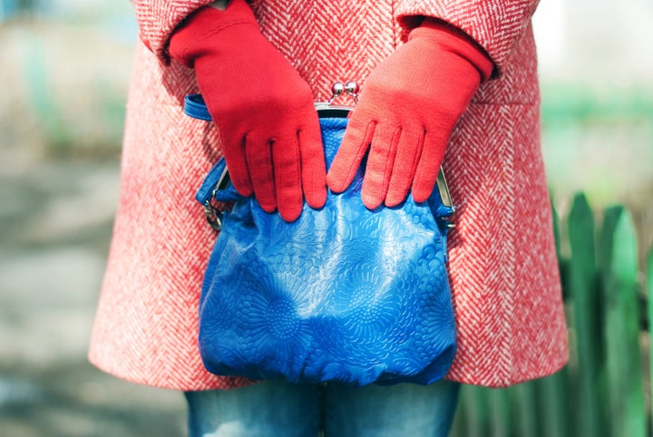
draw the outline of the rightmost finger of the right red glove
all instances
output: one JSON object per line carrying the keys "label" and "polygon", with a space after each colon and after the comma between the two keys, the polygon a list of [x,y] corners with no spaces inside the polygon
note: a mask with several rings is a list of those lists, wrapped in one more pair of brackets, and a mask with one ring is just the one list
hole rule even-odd
{"label": "rightmost finger of the right red glove", "polygon": [[448,137],[429,135],[424,136],[424,148],[420,157],[413,181],[413,199],[415,202],[426,201],[433,192],[438,170],[444,158],[444,148]]}

